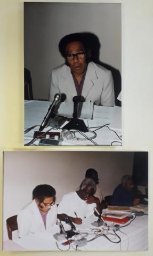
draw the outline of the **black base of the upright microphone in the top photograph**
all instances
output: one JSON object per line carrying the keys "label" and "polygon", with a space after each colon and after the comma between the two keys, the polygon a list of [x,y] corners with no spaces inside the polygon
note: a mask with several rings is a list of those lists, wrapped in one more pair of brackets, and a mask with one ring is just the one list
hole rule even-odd
{"label": "black base of the upright microphone in the top photograph", "polygon": [[88,132],[88,129],[82,119],[71,119],[71,121],[68,124],[62,127],[62,130],[63,129]]}

